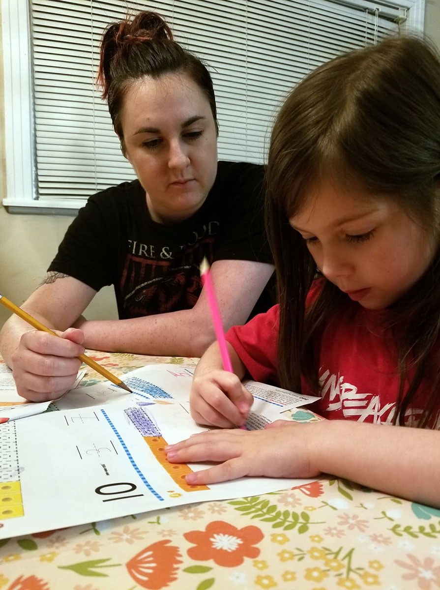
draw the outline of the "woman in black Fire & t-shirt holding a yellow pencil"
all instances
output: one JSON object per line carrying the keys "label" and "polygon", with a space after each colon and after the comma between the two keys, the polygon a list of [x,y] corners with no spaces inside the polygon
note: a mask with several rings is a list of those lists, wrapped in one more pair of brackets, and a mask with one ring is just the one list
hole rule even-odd
{"label": "woman in black Fire & t-shirt holding a yellow pencil", "polygon": [[[173,41],[159,15],[110,25],[98,81],[137,180],[93,195],[22,306],[62,338],[11,317],[0,349],[20,395],[54,399],[69,388],[84,347],[200,356],[214,340],[199,263],[212,265],[225,327],[270,304],[272,274],[261,214],[261,166],[217,162],[212,81]],[[120,320],[81,317],[113,284]],[[71,328],[74,326],[74,328]]]}

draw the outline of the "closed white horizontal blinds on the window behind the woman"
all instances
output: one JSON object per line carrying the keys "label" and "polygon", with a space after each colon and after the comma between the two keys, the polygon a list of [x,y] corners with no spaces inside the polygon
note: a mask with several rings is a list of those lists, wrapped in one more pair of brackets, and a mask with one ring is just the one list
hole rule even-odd
{"label": "closed white horizontal blinds on the window behind the woman", "polygon": [[95,86],[104,28],[153,9],[214,80],[219,158],[264,161],[274,114],[308,71],[398,31],[397,8],[330,0],[31,0],[37,198],[80,207],[134,178]]}

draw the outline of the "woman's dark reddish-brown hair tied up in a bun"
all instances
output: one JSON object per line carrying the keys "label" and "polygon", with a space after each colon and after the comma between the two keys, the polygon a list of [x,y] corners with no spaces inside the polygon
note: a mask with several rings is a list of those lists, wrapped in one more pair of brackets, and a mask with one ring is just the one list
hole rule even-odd
{"label": "woman's dark reddish-brown hair tied up in a bun", "polygon": [[182,73],[203,91],[211,107],[218,132],[217,112],[211,75],[202,60],[174,41],[173,33],[157,12],[143,11],[110,24],[101,40],[97,83],[107,99],[114,130],[123,153],[124,135],[121,110],[131,84],[146,76]]}

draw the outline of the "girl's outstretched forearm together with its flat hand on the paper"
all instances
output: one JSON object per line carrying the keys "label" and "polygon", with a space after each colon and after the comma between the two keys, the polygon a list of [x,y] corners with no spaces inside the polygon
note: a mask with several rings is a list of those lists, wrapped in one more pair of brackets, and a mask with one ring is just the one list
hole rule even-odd
{"label": "girl's outstretched forearm together with its flat hand on the paper", "polygon": [[438,431],[348,420],[277,421],[265,430],[202,432],[167,451],[172,463],[219,462],[187,476],[191,484],[329,473],[440,507]]}

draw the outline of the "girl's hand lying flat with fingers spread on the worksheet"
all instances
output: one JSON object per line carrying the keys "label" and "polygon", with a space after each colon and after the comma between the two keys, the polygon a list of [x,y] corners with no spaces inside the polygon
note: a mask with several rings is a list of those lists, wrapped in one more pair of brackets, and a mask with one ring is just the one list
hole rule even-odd
{"label": "girl's hand lying flat with fingers spread on the worksheet", "polygon": [[215,467],[186,476],[209,484],[244,476],[316,477],[314,454],[325,422],[297,424],[277,420],[264,430],[213,430],[165,447],[170,463],[218,461]]}

